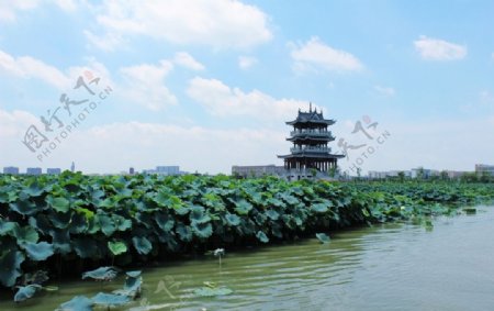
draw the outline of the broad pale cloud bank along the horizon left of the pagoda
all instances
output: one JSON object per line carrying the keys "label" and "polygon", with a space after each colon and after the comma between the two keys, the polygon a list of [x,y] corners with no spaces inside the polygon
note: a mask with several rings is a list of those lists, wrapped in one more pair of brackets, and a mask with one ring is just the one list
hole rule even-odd
{"label": "broad pale cloud bank along the horizon left of the pagoda", "polygon": [[[285,132],[262,129],[214,130],[203,126],[127,122],[78,129],[52,151],[43,163],[22,143],[36,118],[27,112],[0,110],[0,167],[15,165],[68,168],[71,160],[85,173],[119,173],[157,165],[180,165],[188,171],[229,173],[232,165],[280,164],[288,152]],[[5,124],[5,125],[4,125]],[[104,149],[104,158],[101,151]],[[200,156],[199,156],[200,155]],[[222,159],[222,160],[217,160]]]}

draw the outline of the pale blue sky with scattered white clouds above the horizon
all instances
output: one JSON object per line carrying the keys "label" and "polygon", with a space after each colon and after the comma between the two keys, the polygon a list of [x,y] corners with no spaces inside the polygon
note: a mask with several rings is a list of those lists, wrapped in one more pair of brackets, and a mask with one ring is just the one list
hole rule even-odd
{"label": "pale blue sky with scattered white clouds above the horizon", "polygon": [[[281,165],[284,121],[308,102],[337,120],[332,147],[350,146],[343,169],[494,164],[493,11],[492,1],[1,1],[0,166]],[[112,92],[74,89],[90,75],[97,93]],[[63,93],[88,102],[68,115]],[[46,132],[41,116],[57,108],[64,126]],[[378,125],[352,133],[359,121]],[[34,152],[22,143],[31,125],[46,137]]]}

